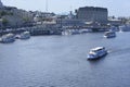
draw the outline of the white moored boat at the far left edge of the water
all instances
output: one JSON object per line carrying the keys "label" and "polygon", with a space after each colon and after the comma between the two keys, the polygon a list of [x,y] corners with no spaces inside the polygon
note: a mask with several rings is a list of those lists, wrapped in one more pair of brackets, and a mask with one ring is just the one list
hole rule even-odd
{"label": "white moored boat at the far left edge of the water", "polygon": [[8,44],[8,42],[13,42],[15,41],[15,37],[14,37],[14,34],[6,34],[6,35],[3,35],[0,39],[1,42],[3,44]]}

